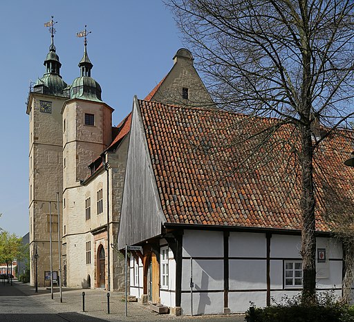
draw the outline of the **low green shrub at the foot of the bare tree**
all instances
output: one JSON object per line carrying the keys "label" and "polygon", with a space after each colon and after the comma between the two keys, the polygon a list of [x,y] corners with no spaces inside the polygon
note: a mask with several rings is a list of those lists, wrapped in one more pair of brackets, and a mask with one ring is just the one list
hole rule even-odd
{"label": "low green shrub at the foot of the bare tree", "polygon": [[[254,305],[251,306],[254,307]],[[250,320],[250,310],[246,312]],[[317,303],[302,303],[301,296],[283,297],[281,303],[254,307],[254,322],[354,322],[354,307],[339,303],[334,292],[317,296]]]}

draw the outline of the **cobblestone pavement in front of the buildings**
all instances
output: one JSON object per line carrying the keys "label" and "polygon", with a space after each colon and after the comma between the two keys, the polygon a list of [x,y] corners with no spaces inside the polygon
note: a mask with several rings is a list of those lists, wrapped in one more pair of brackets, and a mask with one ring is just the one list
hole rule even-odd
{"label": "cobblestone pavement in front of the buildings", "polygon": [[[55,287],[53,299],[50,290],[34,287],[15,281],[13,285],[0,282],[0,321],[244,321],[243,315],[220,314],[213,316],[172,316],[151,311],[149,305],[128,303],[128,316],[125,316],[125,303],[122,292],[110,292],[110,314],[107,313],[107,296],[104,290],[73,290],[63,288],[62,303],[59,290]],[[85,292],[85,312],[82,312],[82,292]]]}

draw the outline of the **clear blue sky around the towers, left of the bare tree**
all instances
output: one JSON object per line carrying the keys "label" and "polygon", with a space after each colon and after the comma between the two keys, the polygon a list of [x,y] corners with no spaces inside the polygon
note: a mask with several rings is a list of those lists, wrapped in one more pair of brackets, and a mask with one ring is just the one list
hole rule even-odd
{"label": "clear blue sky around the towers, left of the bare tree", "polygon": [[28,232],[29,80],[44,74],[50,33],[44,23],[54,15],[55,46],[68,84],[78,77],[83,39],[88,31],[91,76],[102,100],[115,109],[113,125],[131,111],[133,95],[144,98],[170,70],[184,47],[171,13],[160,0],[3,1],[0,11],[0,227]]}

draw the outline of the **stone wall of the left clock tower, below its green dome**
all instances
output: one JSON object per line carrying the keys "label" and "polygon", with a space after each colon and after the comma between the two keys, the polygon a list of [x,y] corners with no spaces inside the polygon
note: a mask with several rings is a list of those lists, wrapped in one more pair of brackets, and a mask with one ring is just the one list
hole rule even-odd
{"label": "stone wall of the left clock tower, below its green dome", "polygon": [[[29,216],[30,252],[37,246],[37,280],[44,286],[44,272],[50,271],[50,204],[53,214],[53,270],[59,269],[57,245],[57,192],[62,201],[62,117],[63,97],[30,94],[29,126]],[[51,113],[41,111],[41,101],[51,103]],[[62,220],[62,209],[60,209]],[[31,257],[32,258],[32,257]],[[35,285],[35,261],[30,261],[31,285]]]}

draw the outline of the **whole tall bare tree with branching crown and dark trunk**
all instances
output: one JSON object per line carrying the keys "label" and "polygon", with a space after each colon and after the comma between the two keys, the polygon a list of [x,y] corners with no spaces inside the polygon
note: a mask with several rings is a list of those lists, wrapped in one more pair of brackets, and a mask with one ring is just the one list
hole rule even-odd
{"label": "whole tall bare tree with branching crown and dark trunk", "polygon": [[167,5],[218,107],[275,117],[277,122],[262,129],[261,140],[271,142],[283,126],[294,127],[303,294],[315,299],[313,157],[328,135],[353,117],[353,1],[171,0]]}

